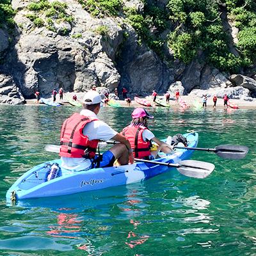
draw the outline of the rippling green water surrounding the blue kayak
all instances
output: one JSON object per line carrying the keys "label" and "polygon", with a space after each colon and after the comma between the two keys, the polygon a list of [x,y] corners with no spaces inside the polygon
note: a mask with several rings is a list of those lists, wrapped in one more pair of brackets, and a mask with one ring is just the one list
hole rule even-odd
{"label": "rippling green water surrounding the blue kayak", "polygon": [[[35,164],[56,158],[61,123],[77,108],[0,106],[0,255],[256,255],[255,112],[157,109],[159,138],[195,129],[200,147],[247,145],[240,161],[195,152],[216,170],[207,179],[177,171],[129,186],[6,205],[5,194]],[[120,130],[131,108],[102,108]]]}

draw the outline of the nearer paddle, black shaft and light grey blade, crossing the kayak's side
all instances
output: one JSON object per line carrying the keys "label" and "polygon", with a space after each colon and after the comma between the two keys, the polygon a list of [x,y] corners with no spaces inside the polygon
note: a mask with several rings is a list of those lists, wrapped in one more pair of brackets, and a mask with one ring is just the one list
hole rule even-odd
{"label": "nearer paddle, black shaft and light grey blade, crossing the kayak's side", "polygon": [[175,167],[179,171],[179,173],[192,177],[192,178],[198,178],[198,179],[204,179],[208,175],[212,173],[215,166],[214,164],[202,162],[202,161],[196,161],[196,160],[184,160],[180,161],[177,164],[173,163],[163,163],[159,161],[150,161],[145,159],[138,159],[134,158],[135,161],[143,162],[143,163],[151,163],[151,164],[159,164],[159,165],[166,165],[169,167]]}

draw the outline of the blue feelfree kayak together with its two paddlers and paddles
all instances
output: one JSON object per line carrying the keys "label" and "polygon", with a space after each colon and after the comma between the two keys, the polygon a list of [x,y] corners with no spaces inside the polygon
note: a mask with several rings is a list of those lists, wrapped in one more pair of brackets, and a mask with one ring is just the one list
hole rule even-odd
{"label": "blue feelfree kayak together with its two paddlers and paddles", "polygon": [[[83,109],[63,122],[60,145],[45,147],[57,152],[60,158],[24,173],[8,189],[8,202],[130,184],[159,175],[170,167],[177,168],[182,175],[204,179],[214,170],[214,164],[186,160],[193,150],[214,152],[229,159],[241,159],[248,152],[248,148],[235,145],[196,148],[198,133],[194,131],[159,140],[148,127],[148,120],[154,116],[144,108],[134,109],[131,123],[117,132],[99,120],[101,100],[95,90],[84,94]],[[100,148],[106,145],[112,147],[100,154]]]}

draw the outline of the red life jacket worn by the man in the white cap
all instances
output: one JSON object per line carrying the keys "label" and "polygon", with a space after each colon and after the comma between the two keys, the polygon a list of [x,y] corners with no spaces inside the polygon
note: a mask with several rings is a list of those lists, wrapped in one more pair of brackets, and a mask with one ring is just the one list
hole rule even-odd
{"label": "red life jacket worn by the man in the white cap", "polygon": [[[95,120],[99,119],[78,113],[65,120],[60,134],[60,156],[86,159],[95,157],[99,140],[89,140],[88,136],[83,134],[84,126]],[[87,152],[84,153],[84,150]]]}

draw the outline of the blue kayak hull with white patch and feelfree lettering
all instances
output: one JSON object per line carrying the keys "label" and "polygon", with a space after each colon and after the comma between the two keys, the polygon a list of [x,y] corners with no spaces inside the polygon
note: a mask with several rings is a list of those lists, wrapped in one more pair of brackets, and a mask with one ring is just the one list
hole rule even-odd
{"label": "blue kayak hull with white patch and feelfree lettering", "polygon": [[[198,134],[187,133],[188,147],[196,147]],[[175,149],[173,154],[160,153],[157,161],[162,163],[179,163],[188,159],[193,150]],[[56,178],[47,180],[52,164],[61,166],[61,159],[48,161],[33,167],[24,173],[6,193],[6,200],[10,202],[12,195],[15,199],[41,198],[46,196],[61,196],[93,191],[113,186],[140,182],[156,175],[167,172],[172,168],[153,163],[136,162],[123,166],[94,168],[86,171],[67,170],[60,168]]]}

